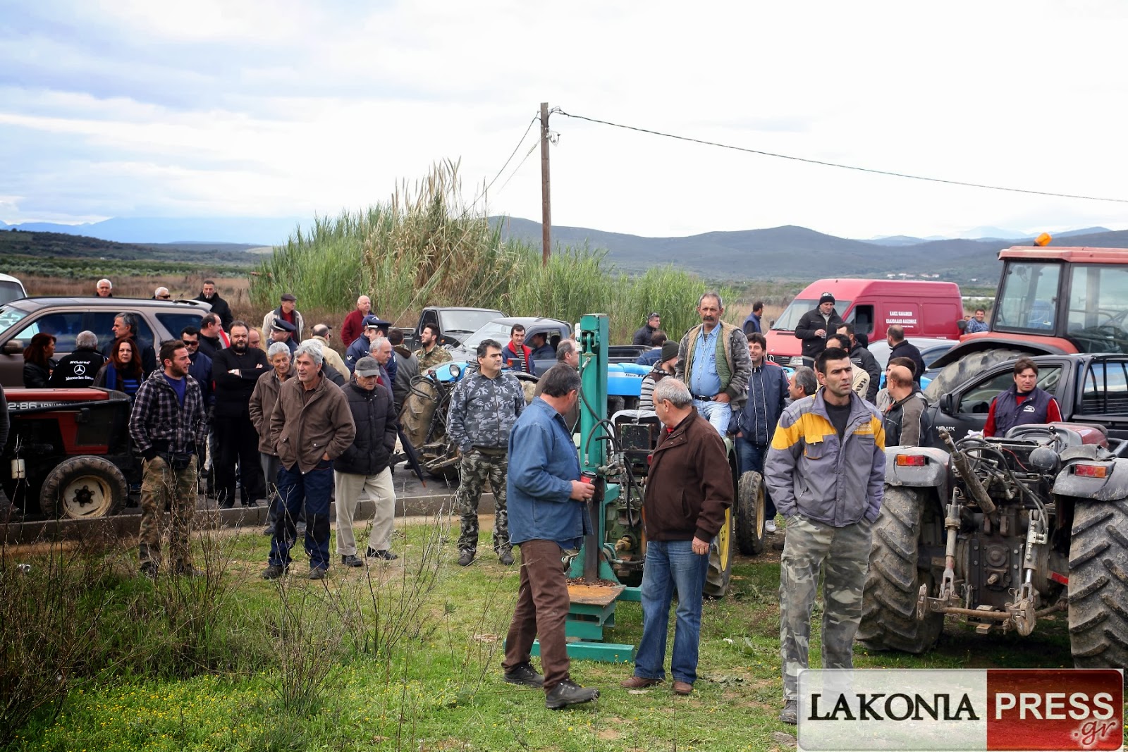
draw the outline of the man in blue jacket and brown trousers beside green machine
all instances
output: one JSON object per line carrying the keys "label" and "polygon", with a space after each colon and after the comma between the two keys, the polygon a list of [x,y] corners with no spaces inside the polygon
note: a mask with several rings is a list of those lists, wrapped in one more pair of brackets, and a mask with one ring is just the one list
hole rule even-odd
{"label": "man in blue jacket and brown trousers beside green machine", "polygon": [[[599,690],[580,687],[569,673],[567,576],[561,567],[564,554],[578,551],[592,531],[584,502],[593,486],[580,480],[580,460],[563,418],[579,399],[580,374],[554,365],[540,386],[544,391],[509,434],[509,536],[521,547],[521,584],[501,665],[505,681],[543,687],[545,707],[558,710],[599,697]],[[529,663],[538,636],[544,675]]]}

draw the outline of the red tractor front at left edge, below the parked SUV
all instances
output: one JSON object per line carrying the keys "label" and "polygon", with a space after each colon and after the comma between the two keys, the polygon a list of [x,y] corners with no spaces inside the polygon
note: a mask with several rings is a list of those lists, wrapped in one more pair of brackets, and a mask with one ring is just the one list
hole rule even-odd
{"label": "red tractor front at left edge, below the parked SUV", "polygon": [[[0,476],[25,514],[100,517],[125,505],[141,463],[130,449],[130,400],[107,389],[8,389],[11,431]],[[10,469],[9,469],[10,468]]]}

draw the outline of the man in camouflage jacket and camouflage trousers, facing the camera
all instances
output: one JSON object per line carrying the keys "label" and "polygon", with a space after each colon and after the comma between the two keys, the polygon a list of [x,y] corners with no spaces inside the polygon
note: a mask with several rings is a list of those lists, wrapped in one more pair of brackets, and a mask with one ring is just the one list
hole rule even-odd
{"label": "man in camouflage jacket and camouflage trousers, facing the camera", "polygon": [[502,564],[513,564],[505,512],[509,432],[525,409],[525,390],[512,373],[501,370],[501,345],[483,339],[478,370],[469,371],[450,395],[447,435],[462,453],[458,508],[462,516],[458,563],[474,561],[478,548],[478,499],[488,478],[494,493],[494,550]]}

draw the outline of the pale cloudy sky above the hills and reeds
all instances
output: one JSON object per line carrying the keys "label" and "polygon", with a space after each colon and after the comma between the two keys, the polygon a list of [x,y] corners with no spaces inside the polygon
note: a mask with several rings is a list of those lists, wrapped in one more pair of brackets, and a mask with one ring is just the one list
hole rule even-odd
{"label": "pale cloudy sky above the hills and reeds", "polygon": [[[0,0],[0,221],[311,216],[460,159],[467,201],[548,101],[748,149],[1128,200],[1128,3]],[[554,114],[553,222],[646,236],[1128,228],[1128,203],[964,188]],[[487,195],[540,218],[534,129]]]}

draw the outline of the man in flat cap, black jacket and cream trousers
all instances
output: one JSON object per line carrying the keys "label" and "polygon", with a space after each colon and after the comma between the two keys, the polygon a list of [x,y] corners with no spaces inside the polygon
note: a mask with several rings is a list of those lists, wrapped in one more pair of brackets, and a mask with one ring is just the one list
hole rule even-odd
{"label": "man in flat cap, black jacket and cream trousers", "polygon": [[346,567],[363,566],[356,556],[353,515],[361,494],[376,502],[376,516],[364,556],[390,561],[391,523],[396,516],[396,489],[388,462],[396,449],[396,410],[391,391],[377,383],[380,364],[362,357],[353,371],[356,380],[344,388],[356,424],[356,437],[333,463],[333,489],[337,501],[337,554]]}

